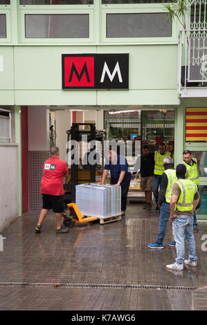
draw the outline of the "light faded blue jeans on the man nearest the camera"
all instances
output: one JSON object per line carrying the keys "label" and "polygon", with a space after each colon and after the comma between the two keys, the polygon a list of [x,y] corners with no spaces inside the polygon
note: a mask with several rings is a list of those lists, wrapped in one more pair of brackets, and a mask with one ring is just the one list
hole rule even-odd
{"label": "light faded blue jeans on the man nearest the camera", "polygon": [[173,233],[174,240],[176,241],[177,258],[176,263],[183,266],[185,257],[185,243],[184,239],[188,244],[188,260],[190,262],[197,261],[195,256],[195,239],[192,233],[193,215],[187,216],[180,214],[173,221]]}

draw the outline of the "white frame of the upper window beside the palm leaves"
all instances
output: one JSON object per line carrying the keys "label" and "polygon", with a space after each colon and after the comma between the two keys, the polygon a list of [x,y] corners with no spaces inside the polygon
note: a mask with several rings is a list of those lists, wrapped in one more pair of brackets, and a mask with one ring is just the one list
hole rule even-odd
{"label": "white frame of the upper window beside the palm leaves", "polygon": [[[148,6],[147,6],[148,5]],[[150,6],[149,6],[150,5]],[[114,5],[101,5],[101,24],[102,35],[101,41],[103,44],[128,44],[128,43],[166,43],[177,42],[177,22],[172,21],[172,35],[170,37],[111,37],[107,38],[107,14],[147,14],[147,13],[167,13],[163,10],[161,3],[141,3],[134,4],[114,4]]]}

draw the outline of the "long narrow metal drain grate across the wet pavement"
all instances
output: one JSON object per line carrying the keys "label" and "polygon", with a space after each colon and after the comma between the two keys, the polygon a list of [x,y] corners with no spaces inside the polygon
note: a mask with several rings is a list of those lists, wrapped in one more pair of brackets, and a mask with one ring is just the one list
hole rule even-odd
{"label": "long narrow metal drain grate across the wet pavement", "polygon": [[140,289],[140,290],[196,290],[196,287],[185,286],[148,286],[141,284],[53,284],[32,282],[0,282],[0,287],[39,287],[39,288],[107,288],[107,289]]}

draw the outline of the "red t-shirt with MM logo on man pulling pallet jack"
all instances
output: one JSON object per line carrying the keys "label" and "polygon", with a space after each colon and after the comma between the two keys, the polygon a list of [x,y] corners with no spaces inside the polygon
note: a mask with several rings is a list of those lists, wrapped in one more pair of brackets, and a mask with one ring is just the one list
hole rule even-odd
{"label": "red t-shirt with MM logo on man pulling pallet jack", "polygon": [[41,180],[41,194],[64,195],[63,177],[68,174],[64,161],[52,157],[44,162],[43,177]]}

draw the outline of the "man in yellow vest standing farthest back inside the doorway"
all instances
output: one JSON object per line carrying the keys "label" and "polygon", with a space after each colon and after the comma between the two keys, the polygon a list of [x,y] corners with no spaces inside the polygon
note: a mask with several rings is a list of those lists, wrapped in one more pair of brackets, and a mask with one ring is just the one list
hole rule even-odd
{"label": "man in yellow vest standing farthest back inside the doorway", "polygon": [[154,176],[152,183],[152,192],[154,194],[156,209],[159,210],[158,198],[159,198],[159,185],[161,183],[161,177],[165,171],[163,165],[163,159],[165,157],[170,157],[170,152],[166,151],[165,143],[160,143],[159,150],[154,151]]}

